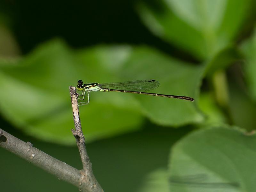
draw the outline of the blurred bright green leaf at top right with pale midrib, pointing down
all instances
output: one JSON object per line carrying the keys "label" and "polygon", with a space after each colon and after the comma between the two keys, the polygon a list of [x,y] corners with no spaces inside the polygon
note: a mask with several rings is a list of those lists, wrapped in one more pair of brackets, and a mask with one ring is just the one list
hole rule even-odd
{"label": "blurred bright green leaf at top right with pale midrib, pointing down", "polygon": [[161,0],[140,4],[138,9],[155,35],[203,60],[232,44],[250,14],[251,2]]}

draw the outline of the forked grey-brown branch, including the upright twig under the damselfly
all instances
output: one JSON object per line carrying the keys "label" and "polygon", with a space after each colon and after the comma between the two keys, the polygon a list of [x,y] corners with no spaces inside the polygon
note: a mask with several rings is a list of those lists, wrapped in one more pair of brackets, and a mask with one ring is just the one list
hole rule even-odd
{"label": "forked grey-brown branch, including the upright twig under the damselfly", "polygon": [[55,159],[54,157],[44,153],[43,151],[33,147],[30,142],[24,141],[12,136],[11,134],[0,129],[0,147],[7,149],[17,156],[27,160],[28,162],[38,166],[46,172],[55,175],[57,178],[67,181],[68,183],[75,185],[83,192],[103,192],[100,184],[95,179],[92,173],[92,164],[85,148],[85,139],[82,132],[78,104],[76,99],[76,88],[69,87],[73,116],[75,122],[75,130],[72,129],[72,133],[76,138],[76,143],[82,159],[83,169],[77,170],[70,165]]}

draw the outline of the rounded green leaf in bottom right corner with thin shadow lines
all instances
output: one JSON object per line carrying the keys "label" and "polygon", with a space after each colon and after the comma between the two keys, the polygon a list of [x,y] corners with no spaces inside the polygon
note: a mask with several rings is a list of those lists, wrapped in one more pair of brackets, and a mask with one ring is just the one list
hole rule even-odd
{"label": "rounded green leaf in bottom right corner with thin shadow lines", "polygon": [[220,126],[192,132],[172,148],[171,191],[253,191],[255,133]]}

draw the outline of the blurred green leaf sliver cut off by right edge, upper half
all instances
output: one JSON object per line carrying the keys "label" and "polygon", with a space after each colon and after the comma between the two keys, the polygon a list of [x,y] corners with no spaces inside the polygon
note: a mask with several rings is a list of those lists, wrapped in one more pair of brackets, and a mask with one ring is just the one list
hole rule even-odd
{"label": "blurred green leaf sliver cut off by right edge, upper half", "polygon": [[252,37],[241,45],[240,50],[245,57],[245,80],[250,91],[250,96],[253,100],[256,100],[256,28]]}

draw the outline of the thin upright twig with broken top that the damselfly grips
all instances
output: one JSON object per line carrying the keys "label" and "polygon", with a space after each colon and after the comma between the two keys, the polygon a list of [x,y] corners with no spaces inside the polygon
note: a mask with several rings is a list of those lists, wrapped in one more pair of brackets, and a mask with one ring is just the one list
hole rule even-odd
{"label": "thin upright twig with broken top that the damselfly grips", "polygon": [[70,97],[71,97],[71,103],[73,108],[73,118],[75,123],[75,130],[72,129],[72,133],[74,137],[76,138],[76,144],[81,156],[83,169],[81,170],[81,173],[83,175],[83,183],[84,187],[87,189],[87,191],[97,191],[97,192],[103,192],[103,189],[100,187],[100,184],[96,180],[96,178],[93,175],[92,172],[92,164],[90,162],[89,156],[87,154],[86,148],[85,148],[85,138],[81,127],[80,122],[80,116],[79,116],[79,109],[78,109],[78,103],[77,103],[77,93],[75,87],[69,87],[70,91]]}

